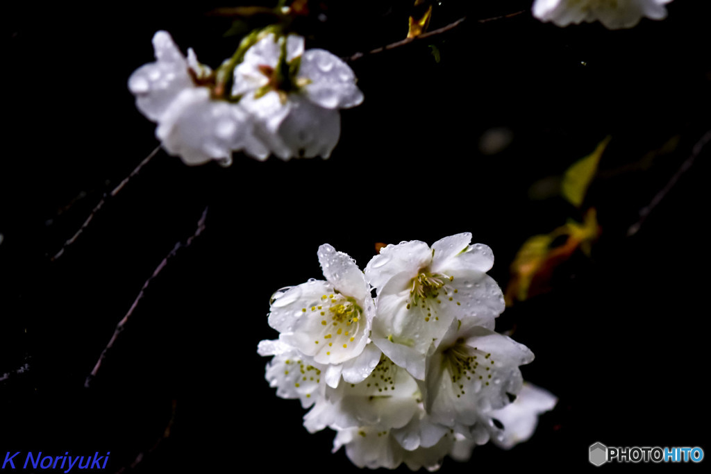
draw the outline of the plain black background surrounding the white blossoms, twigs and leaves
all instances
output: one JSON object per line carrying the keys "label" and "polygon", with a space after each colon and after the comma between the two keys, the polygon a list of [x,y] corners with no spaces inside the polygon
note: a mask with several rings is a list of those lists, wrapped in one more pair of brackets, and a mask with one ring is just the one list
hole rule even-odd
{"label": "plain black background surrounding the white blossoms, twigs and leaves", "polygon": [[[410,3],[324,2],[328,20],[304,26],[307,47],[348,56],[397,41]],[[126,87],[153,60],[153,33],[170,31],[213,66],[238,38],[222,37],[228,21],[204,15],[217,4],[8,7],[0,456],[111,451],[118,470],[145,453],[134,468],[145,473],[250,463],[355,470],[343,450],[330,453],[333,433],[309,435],[299,403],[264,381],[256,345],[277,336],[269,296],[321,278],[324,242],[364,268],[375,242],[456,232],[492,247],[490,274],[506,286],[526,238],[581,217],[560,198],[531,200],[530,186],[608,135],[606,172],[584,205],[602,226],[592,258],[575,254],[551,293],[508,308],[497,326],[515,328],[536,355],[524,377],[560,401],[528,443],[476,448],[470,463],[445,460],[442,470],[592,469],[596,441],[709,448],[708,149],[626,237],[711,128],[709,7],[677,0],[665,21],[607,31],[557,28],[528,12],[478,23],[530,1],[469,3],[434,11],[430,29],[466,15],[456,30],[351,64],[365,101],[342,112],[328,161],[235,156],[230,168],[191,168],[161,152],[56,262],[49,257],[103,193],[157,145]],[[513,131],[513,142],[486,156],[479,139],[493,127]],[[673,153],[650,168],[619,172],[675,136]],[[151,282],[86,389],[116,323],[205,206],[205,231]],[[166,426],[170,436],[156,445]]]}

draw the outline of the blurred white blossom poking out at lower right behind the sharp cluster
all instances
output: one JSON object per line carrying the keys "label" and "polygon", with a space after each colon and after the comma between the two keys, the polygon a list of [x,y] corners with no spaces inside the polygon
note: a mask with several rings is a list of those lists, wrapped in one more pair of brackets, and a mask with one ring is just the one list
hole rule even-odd
{"label": "blurred white blossom poking out at lower right behind the sharp cluster", "polygon": [[503,426],[491,438],[497,446],[509,449],[528,441],[538,425],[538,416],[553,409],[558,399],[555,395],[528,382],[523,382],[518,396],[502,409],[491,411],[489,416]]}

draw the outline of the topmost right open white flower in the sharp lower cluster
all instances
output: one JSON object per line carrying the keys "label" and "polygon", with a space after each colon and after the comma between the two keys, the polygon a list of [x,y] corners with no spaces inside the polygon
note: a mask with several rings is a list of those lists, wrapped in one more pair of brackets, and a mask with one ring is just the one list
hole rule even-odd
{"label": "topmost right open white flower in the sharp lower cluster", "polygon": [[491,249],[469,242],[466,232],[432,247],[418,240],[388,245],[365,268],[378,289],[370,337],[416,379],[424,379],[430,346],[437,348],[452,321],[493,329],[504,309],[501,289],[486,274],[493,265]]}

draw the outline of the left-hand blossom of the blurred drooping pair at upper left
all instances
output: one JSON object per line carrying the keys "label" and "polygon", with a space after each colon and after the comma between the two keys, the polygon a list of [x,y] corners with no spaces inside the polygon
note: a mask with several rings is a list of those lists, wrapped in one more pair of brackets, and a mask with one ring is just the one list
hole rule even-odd
{"label": "left-hand blossom of the blurred drooping pair at upper left", "polygon": [[244,150],[265,159],[269,150],[255,138],[253,120],[238,104],[213,99],[209,87],[196,81],[210,75],[193,50],[183,57],[166,31],[153,37],[156,62],[138,68],[129,77],[129,90],[138,109],[158,122],[156,137],[171,155],[198,165],[215,159],[225,165],[232,151]]}

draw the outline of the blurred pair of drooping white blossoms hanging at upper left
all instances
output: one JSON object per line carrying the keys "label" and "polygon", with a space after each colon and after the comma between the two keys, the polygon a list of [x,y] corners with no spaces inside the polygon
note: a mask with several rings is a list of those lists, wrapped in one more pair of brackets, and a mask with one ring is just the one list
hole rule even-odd
{"label": "blurred pair of drooping white blossoms hanging at upper left", "polygon": [[228,165],[237,151],[328,158],[341,133],[338,109],[363,102],[351,68],[326,50],[304,50],[301,36],[247,36],[214,71],[192,49],[183,56],[166,31],[153,46],[156,61],[134,71],[129,90],[158,123],[163,148],[191,165]]}

